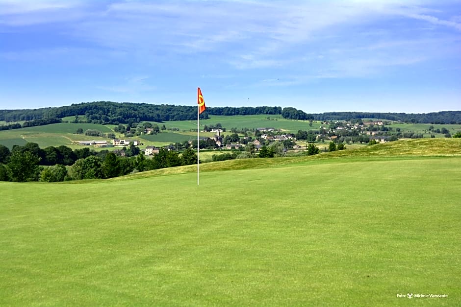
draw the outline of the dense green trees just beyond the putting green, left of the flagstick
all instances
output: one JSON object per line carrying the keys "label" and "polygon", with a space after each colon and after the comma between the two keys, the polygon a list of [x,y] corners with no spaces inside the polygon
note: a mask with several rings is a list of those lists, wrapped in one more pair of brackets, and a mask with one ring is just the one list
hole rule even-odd
{"label": "dense green trees just beyond the putting green, left of the flagstick", "polygon": [[[131,147],[135,146],[130,144],[126,151],[135,151]],[[42,149],[37,143],[31,142],[24,146],[13,146],[10,151],[0,144],[0,181],[106,179],[133,172],[197,163],[197,154],[191,148],[185,149],[181,154],[160,148],[157,154],[149,158],[139,148],[137,153],[131,157],[123,157],[108,150],[95,152],[87,147],[72,150],[67,146],[49,146]]]}

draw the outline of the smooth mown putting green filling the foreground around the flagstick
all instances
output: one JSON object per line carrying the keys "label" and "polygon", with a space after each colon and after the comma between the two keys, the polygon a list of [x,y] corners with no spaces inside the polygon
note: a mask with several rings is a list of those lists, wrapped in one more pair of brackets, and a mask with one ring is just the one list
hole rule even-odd
{"label": "smooth mown putting green filling the foreground around the flagstick", "polygon": [[0,305],[461,304],[461,157],[288,161],[0,183]]}

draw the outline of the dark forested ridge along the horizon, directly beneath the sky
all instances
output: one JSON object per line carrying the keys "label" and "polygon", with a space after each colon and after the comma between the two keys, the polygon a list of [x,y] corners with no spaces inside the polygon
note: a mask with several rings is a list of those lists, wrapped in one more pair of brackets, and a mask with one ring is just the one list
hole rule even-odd
{"label": "dark forested ridge along the horizon, directly beneath the sky", "polygon": [[[98,124],[119,124],[141,121],[194,120],[197,117],[195,106],[171,104],[149,104],[112,101],[94,101],[72,104],[70,106],[0,110],[0,120],[6,122],[31,121],[30,125],[47,124],[40,120],[58,120],[59,118],[84,116],[87,122]],[[292,107],[207,107],[201,114],[209,115],[282,115],[283,118],[296,120],[352,120],[359,118],[380,118],[393,121],[433,124],[461,124],[461,111],[442,111],[426,114],[375,113],[375,112],[326,112],[307,114]],[[38,120],[38,122],[34,122]],[[51,122],[50,122],[51,123]],[[6,127],[5,127],[6,126]],[[1,129],[14,129],[17,126],[4,125]]]}

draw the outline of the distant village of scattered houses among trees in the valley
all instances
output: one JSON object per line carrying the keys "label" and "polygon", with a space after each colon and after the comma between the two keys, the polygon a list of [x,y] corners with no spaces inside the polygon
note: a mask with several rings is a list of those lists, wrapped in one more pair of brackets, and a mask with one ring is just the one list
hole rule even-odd
{"label": "distant village of scattered houses among trees in the valley", "polygon": [[[214,148],[214,149],[237,149],[243,150],[249,143],[254,145],[256,151],[262,146],[269,146],[273,142],[282,142],[284,150],[293,149],[298,151],[302,148],[296,142],[336,142],[336,143],[350,143],[350,142],[388,142],[397,140],[395,135],[396,131],[392,134],[391,127],[387,127],[389,122],[384,121],[323,121],[318,129],[313,130],[300,130],[298,133],[283,133],[281,129],[274,127],[259,127],[253,131],[236,131],[228,132],[225,128],[213,128],[202,130],[202,132],[213,132],[212,137],[200,137],[201,148]],[[220,125],[219,125],[220,126]],[[206,127],[206,126],[205,126]],[[238,132],[238,133],[237,133]],[[243,132],[243,133],[242,133]],[[397,131],[398,132],[398,131]],[[146,128],[142,131],[143,134],[156,134],[161,133],[158,129]],[[240,135],[239,135],[240,134]],[[241,136],[243,134],[243,136]],[[251,135],[249,135],[251,134]],[[202,142],[205,145],[202,145]],[[112,139],[107,140],[88,140],[79,141],[79,145],[94,145],[97,147],[128,147],[130,145],[139,146],[144,145],[138,139]],[[163,148],[167,150],[178,150],[184,147],[196,147],[197,140],[191,139],[187,144],[169,144]],[[179,148],[180,147],[180,148]],[[144,149],[144,154],[149,156],[159,152],[159,147],[148,145]],[[116,153],[124,155],[124,150],[116,149]]]}

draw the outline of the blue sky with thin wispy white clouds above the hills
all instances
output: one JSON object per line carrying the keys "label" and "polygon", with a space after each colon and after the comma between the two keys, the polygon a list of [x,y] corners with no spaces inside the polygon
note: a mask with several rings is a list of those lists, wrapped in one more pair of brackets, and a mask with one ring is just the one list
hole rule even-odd
{"label": "blue sky with thin wispy white clouds above the hills", "polygon": [[0,108],[461,110],[461,2],[0,0]]}

